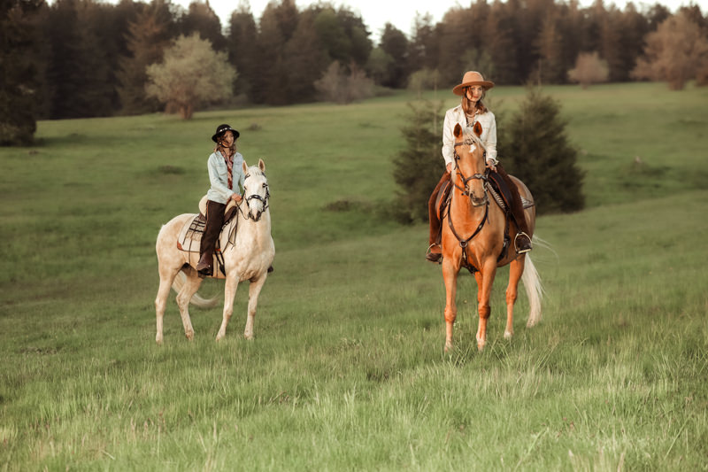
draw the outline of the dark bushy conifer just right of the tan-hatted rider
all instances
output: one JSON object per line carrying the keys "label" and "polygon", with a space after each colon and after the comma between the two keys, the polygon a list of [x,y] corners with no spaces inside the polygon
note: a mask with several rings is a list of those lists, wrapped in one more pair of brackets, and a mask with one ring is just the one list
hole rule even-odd
{"label": "dark bushy conifer just right of the tan-hatted rider", "polygon": [[573,212],[585,205],[578,152],[566,136],[560,104],[529,87],[519,112],[508,124],[497,123],[499,161],[526,183],[539,213]]}

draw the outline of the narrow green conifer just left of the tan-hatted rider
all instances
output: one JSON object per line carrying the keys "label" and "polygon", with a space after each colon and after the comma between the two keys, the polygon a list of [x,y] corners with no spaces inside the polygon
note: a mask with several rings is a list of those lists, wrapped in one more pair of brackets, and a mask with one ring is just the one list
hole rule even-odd
{"label": "narrow green conifer just left of the tan-hatted rider", "polygon": [[400,220],[427,221],[427,200],[445,171],[441,154],[443,102],[421,100],[409,103],[401,132],[405,148],[393,160],[398,184],[396,216]]}

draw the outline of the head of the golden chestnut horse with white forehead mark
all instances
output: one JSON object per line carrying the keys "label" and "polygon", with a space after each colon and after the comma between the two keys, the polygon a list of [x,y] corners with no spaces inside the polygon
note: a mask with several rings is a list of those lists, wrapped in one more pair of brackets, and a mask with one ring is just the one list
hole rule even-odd
{"label": "head of the golden chestnut horse with white forehead mark", "polygon": [[487,205],[487,166],[485,149],[481,142],[481,125],[474,123],[472,132],[464,130],[459,123],[455,135],[455,174],[453,182],[463,195],[470,197],[474,206]]}

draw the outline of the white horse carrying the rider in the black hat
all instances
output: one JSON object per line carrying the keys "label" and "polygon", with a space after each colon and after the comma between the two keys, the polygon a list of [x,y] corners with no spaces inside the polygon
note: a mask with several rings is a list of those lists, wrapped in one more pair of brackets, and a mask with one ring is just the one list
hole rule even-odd
{"label": "white horse carrying the rider in the black hat", "polygon": [[[266,180],[266,165],[263,160],[258,161],[258,166],[246,166],[243,163],[243,172],[246,175],[243,181],[244,195],[238,205],[236,218],[237,226],[235,230],[235,240],[223,233],[220,236],[225,248],[222,251],[226,276],[219,273],[218,264],[214,267],[214,278],[226,278],[224,290],[224,319],[216,340],[221,340],[227,333],[227,324],[234,311],[234,298],[236,287],[239,282],[250,281],[249,306],[246,329],[243,336],[247,339],[253,338],[253,321],[256,316],[256,306],[258,305],[258,294],[263,284],[266,282],[268,267],[273,262],[275,246],[271,237],[271,215],[268,210],[268,181]],[[243,217],[240,217],[241,213]],[[199,254],[196,252],[182,251],[178,247],[178,235],[185,224],[189,225],[196,214],[181,214],[174,217],[170,222],[160,229],[158,235],[158,270],[160,275],[160,287],[158,297],[155,299],[155,312],[158,317],[158,335],[155,340],[162,344],[162,320],[165,316],[165,305],[167,296],[170,294],[170,287],[177,291],[177,306],[180,307],[184,334],[188,339],[194,337],[194,329],[189,319],[189,301],[196,305],[206,306],[209,301],[196,295],[202,279],[196,272],[196,261]],[[175,277],[180,271],[186,276],[184,282]],[[193,298],[194,297],[194,298]]]}

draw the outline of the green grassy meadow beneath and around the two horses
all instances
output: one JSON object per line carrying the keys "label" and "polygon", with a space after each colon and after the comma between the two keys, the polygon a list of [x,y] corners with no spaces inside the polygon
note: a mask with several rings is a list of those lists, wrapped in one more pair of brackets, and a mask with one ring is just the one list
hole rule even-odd
{"label": "green grassy meadow beneath and around the two horses", "polygon": [[[405,94],[45,121],[0,149],[0,469],[707,470],[708,89],[545,91],[588,207],[537,222],[543,320],[526,329],[520,297],[511,341],[497,275],[484,352],[473,278],[443,354],[427,228],[377,211]],[[256,340],[242,287],[224,342],[220,307],[191,310],[189,342],[172,298],[158,346],[155,238],[196,211],[222,122],[272,188]]]}

